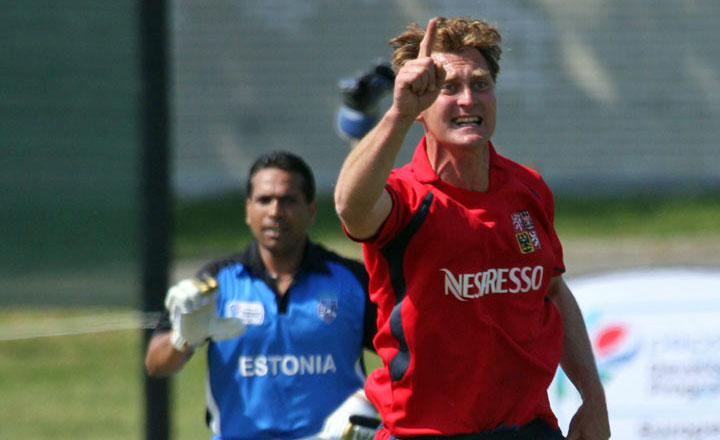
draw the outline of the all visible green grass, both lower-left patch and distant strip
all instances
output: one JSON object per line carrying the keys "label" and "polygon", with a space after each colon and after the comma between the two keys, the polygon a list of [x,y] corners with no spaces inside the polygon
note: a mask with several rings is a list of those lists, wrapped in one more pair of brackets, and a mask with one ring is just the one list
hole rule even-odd
{"label": "all visible green grass, both lower-left patch and distant strip", "polygon": [[[354,253],[329,199],[312,235]],[[241,248],[243,200],[228,196],[176,210],[177,258]],[[563,239],[633,246],[678,241],[717,254],[720,196],[685,199],[557,200]],[[348,247],[345,247],[348,246]],[[619,245],[618,245],[619,246]],[[664,251],[663,251],[664,252]],[[610,258],[613,255],[611,253]],[[0,309],[0,439],[142,439],[142,317],[126,309]],[[89,333],[88,333],[89,332]],[[205,367],[197,353],[173,380],[174,438],[209,437],[204,426]]]}

